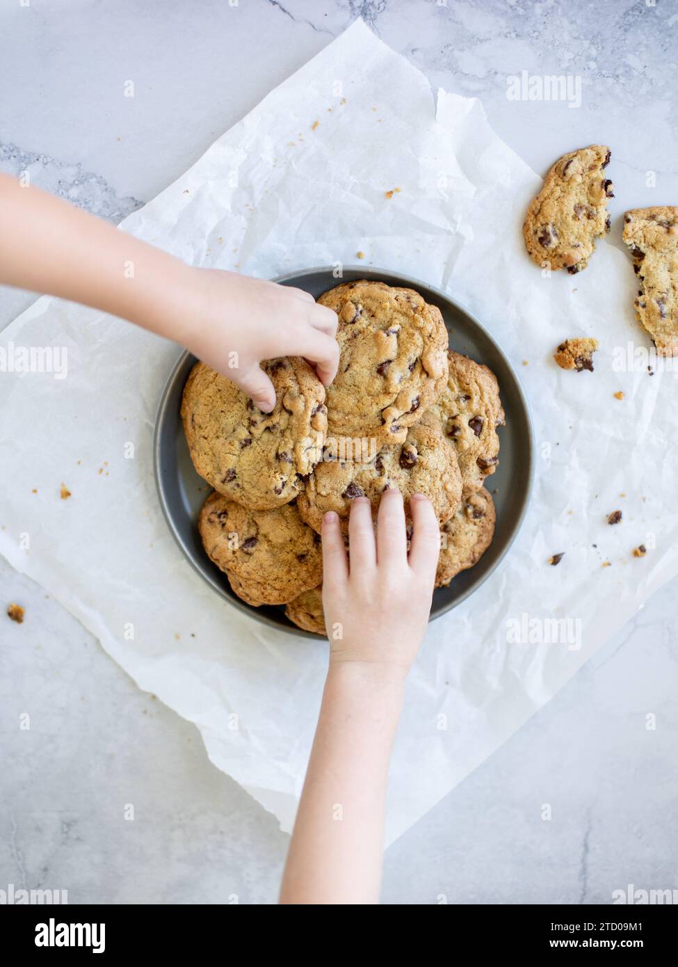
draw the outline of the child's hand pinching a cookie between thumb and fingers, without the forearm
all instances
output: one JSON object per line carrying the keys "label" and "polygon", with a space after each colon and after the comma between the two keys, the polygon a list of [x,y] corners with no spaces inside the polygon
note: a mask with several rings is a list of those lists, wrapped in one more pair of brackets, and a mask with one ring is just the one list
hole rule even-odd
{"label": "child's hand pinching a cookie between thumb and fingers, without the forearm", "polygon": [[182,341],[264,413],[275,406],[276,394],[259,367],[262,360],[303,356],[325,386],[335,378],[337,313],[318,306],[308,292],[219,269],[190,269],[184,289],[184,305],[177,307],[187,313]]}

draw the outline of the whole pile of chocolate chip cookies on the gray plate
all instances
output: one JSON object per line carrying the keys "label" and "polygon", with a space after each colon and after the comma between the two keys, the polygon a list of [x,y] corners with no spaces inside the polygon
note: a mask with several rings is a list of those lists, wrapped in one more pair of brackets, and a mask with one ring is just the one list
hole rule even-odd
{"label": "whole pile of chocolate chip cookies on the gray plate", "polygon": [[285,604],[304,630],[325,633],[323,514],[382,492],[426,494],[438,516],[436,587],[472,567],[494,531],[484,482],[498,463],[504,413],[493,373],[448,349],[438,308],[377,281],[338,285],[318,300],[339,317],[339,372],[325,391],[301,359],[263,366],[272,413],[198,363],[182,418],[195,469],[214,493],[199,530],[243,601]]}

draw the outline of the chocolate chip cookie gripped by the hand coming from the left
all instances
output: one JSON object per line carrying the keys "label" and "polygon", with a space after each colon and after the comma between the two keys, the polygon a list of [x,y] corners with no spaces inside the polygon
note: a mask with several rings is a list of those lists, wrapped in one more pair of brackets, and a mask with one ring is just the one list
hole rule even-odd
{"label": "chocolate chip cookie gripped by the hand coming from the left", "polygon": [[193,366],[181,407],[197,472],[254,511],[280,507],[303,490],[327,429],[325,388],[305,360],[269,360],[262,368],[276,389],[272,413],[204,363]]}

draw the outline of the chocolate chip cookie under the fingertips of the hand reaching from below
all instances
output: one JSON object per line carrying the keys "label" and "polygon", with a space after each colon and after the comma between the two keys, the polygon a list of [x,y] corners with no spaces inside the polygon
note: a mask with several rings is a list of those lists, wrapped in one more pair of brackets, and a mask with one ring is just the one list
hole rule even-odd
{"label": "chocolate chip cookie under the fingertips of the hand reaching from below", "polygon": [[335,459],[327,451],[325,456],[297,500],[299,513],[318,532],[323,514],[336,511],[346,533],[351,501],[356,497],[369,498],[376,518],[381,494],[388,487],[400,490],[406,513],[407,501],[414,493],[423,493],[430,500],[440,523],[457,510],[461,476],[455,448],[429,414],[409,427],[403,443],[366,454],[364,461]]}

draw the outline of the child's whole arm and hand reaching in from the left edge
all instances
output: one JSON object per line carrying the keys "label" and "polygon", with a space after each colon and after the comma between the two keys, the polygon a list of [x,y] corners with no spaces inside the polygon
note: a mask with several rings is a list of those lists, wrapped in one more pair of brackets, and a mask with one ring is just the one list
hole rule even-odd
{"label": "child's whole arm and hand reaching in from the left edge", "polygon": [[337,316],[309,293],[235,272],[193,269],[3,174],[0,282],[100,308],[174,339],[266,412],[276,396],[261,360],[304,356],[325,385],[337,372]]}

